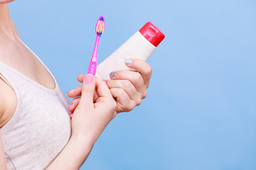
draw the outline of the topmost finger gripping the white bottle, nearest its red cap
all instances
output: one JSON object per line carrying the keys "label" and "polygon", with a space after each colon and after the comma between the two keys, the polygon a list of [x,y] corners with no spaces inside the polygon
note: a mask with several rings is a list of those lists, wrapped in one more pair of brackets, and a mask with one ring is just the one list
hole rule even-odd
{"label": "topmost finger gripping the white bottle, nearest its red cap", "polygon": [[136,69],[140,74],[142,74],[142,78],[144,79],[144,84],[146,88],[149,86],[149,79],[151,78],[152,68],[149,64],[144,62],[144,60],[139,59],[129,59],[129,64],[126,64],[127,67],[132,69]]}

